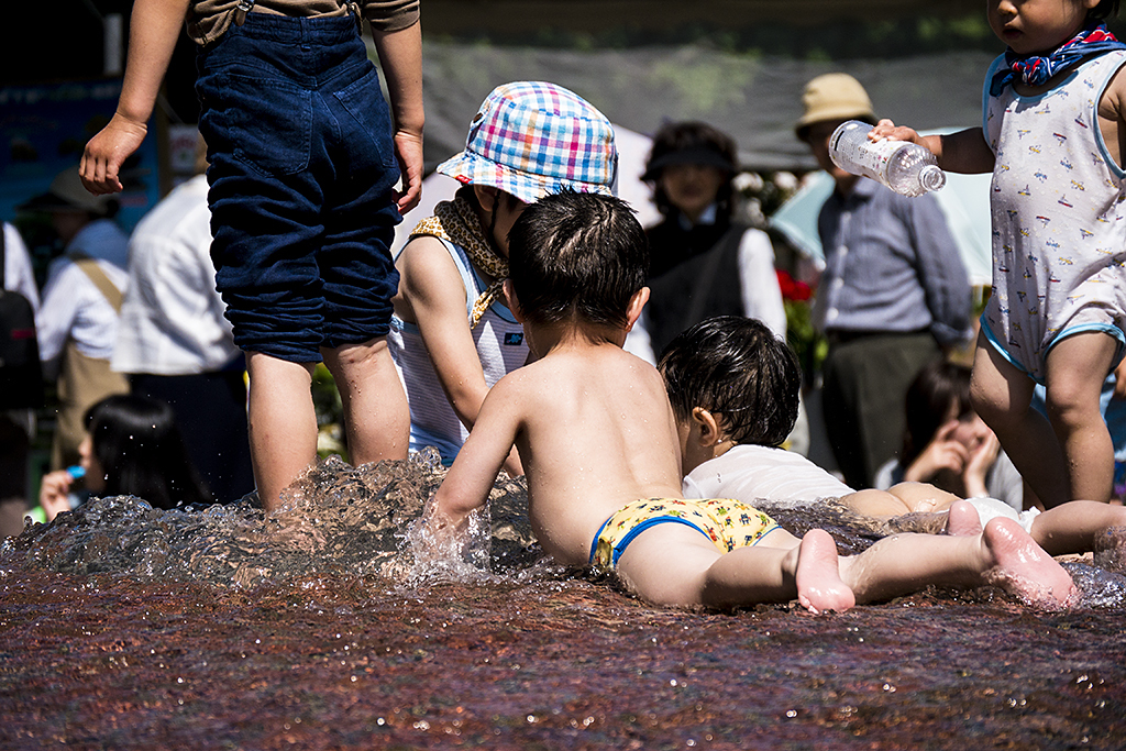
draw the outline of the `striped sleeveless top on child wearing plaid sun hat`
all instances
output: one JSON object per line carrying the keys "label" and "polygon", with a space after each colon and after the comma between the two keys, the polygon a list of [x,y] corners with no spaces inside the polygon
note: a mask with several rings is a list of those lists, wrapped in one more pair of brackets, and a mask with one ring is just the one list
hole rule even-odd
{"label": "striped sleeveless top on child wearing plaid sun hat", "polygon": [[[435,239],[446,247],[462,275],[466,297],[465,315],[468,320],[473,303],[488,285],[473,270],[470,258],[461,245],[441,238]],[[473,328],[473,341],[485,374],[485,384],[490,388],[528,359],[524,327],[499,302],[490,305]],[[434,446],[441,454],[443,464],[449,466],[470,432],[457,419],[457,413],[446,397],[419,328],[393,315],[387,346],[411,408],[411,450]]]}

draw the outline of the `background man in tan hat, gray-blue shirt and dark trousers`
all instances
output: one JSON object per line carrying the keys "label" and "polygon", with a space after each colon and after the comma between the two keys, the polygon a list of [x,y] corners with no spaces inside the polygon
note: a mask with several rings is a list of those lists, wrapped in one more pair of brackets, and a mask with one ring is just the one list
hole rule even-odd
{"label": "background man in tan hat, gray-blue shirt and dark trousers", "polygon": [[902,446],[911,381],[971,336],[969,279],[933,196],[900,196],[830,161],[838,125],[876,122],[860,83],[821,75],[802,100],[797,136],[837,184],[817,221],[825,269],[814,323],[829,340],[825,429],[844,482],[870,488]]}

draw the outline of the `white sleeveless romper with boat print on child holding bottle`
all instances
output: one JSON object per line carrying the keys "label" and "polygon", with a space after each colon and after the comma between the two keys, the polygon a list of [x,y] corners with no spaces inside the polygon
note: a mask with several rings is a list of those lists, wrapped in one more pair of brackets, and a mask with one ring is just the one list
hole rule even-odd
{"label": "white sleeveless romper with boat print on child holding bottle", "polygon": [[1057,86],[1022,97],[1011,86],[990,97],[984,132],[997,155],[993,295],[982,331],[1037,382],[1063,337],[1126,325],[1126,173],[1107,152],[1098,106],[1126,64],[1126,51],[1089,60]]}

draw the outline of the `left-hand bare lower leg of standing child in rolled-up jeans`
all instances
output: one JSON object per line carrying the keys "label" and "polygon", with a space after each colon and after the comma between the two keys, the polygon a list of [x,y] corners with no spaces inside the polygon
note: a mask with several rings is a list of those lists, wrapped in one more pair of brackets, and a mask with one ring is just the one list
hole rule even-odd
{"label": "left-hand bare lower leg of standing child in rolled-up jeans", "polygon": [[267,511],[280,506],[282,491],[316,459],[312,373],[311,363],[247,354],[250,458],[258,498]]}

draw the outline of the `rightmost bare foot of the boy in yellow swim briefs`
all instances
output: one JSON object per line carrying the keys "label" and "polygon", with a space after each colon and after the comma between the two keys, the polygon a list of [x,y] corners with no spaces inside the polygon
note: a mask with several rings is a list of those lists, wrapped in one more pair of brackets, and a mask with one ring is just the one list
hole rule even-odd
{"label": "rightmost bare foot of the boy in yellow swim briefs", "polygon": [[983,578],[1029,605],[1066,608],[1076,599],[1075,584],[1056,561],[1044,552],[1012,519],[991,519],[982,542],[995,565]]}

